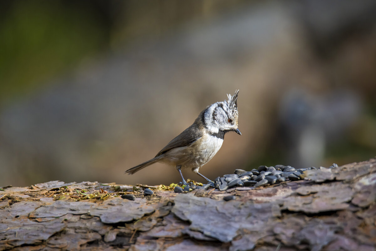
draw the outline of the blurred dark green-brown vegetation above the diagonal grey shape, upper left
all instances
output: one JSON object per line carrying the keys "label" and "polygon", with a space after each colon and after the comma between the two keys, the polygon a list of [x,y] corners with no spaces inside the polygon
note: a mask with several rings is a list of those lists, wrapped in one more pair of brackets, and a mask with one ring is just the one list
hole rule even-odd
{"label": "blurred dark green-brown vegetation above the diagonal grey shape, upper left", "polygon": [[30,94],[63,73],[69,74],[98,53],[153,40],[192,18],[208,18],[239,8],[243,2],[3,1],[0,108],[3,102]]}

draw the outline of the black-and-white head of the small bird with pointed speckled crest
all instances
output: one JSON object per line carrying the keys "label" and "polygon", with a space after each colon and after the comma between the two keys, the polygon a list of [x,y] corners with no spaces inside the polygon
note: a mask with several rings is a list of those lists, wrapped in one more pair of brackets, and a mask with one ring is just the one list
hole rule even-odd
{"label": "black-and-white head of the small bird with pointed speckled crest", "polygon": [[238,93],[239,90],[233,96],[227,94],[228,100],[214,103],[206,109],[204,121],[209,132],[224,135],[238,129]]}

